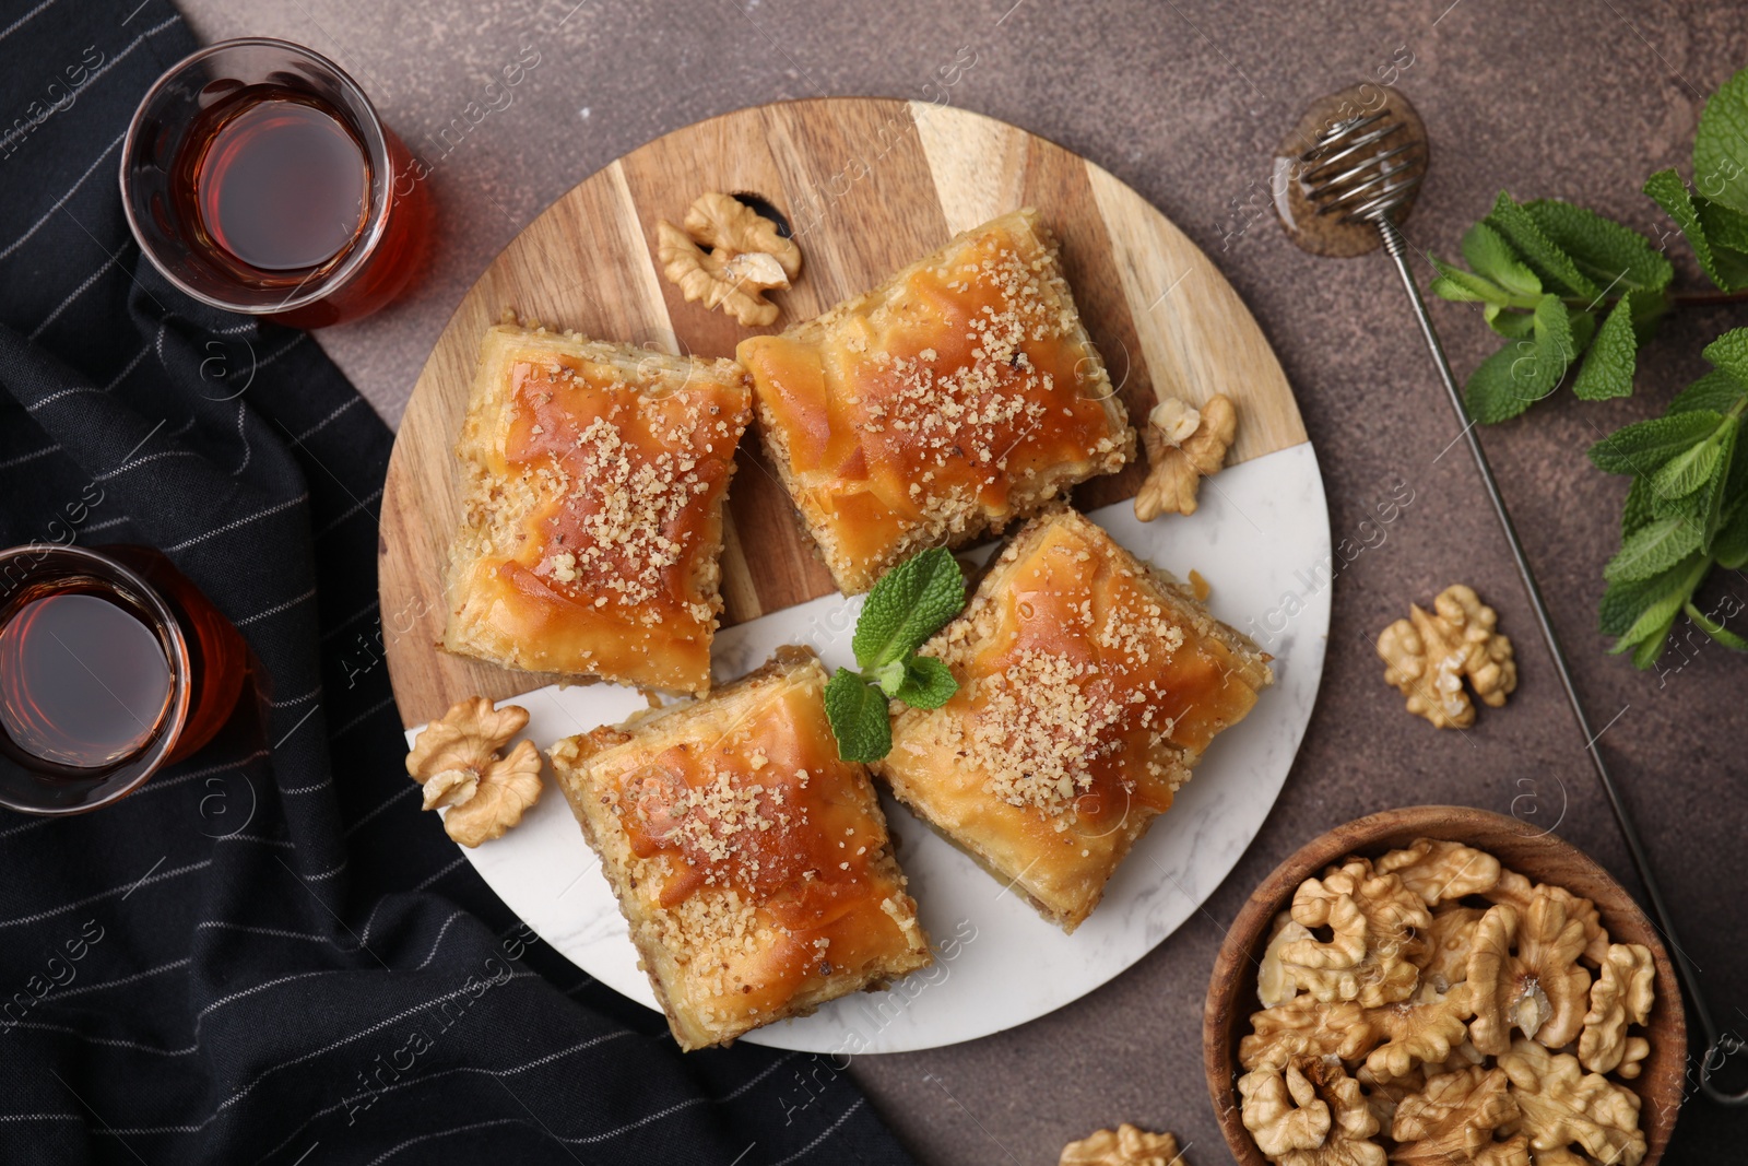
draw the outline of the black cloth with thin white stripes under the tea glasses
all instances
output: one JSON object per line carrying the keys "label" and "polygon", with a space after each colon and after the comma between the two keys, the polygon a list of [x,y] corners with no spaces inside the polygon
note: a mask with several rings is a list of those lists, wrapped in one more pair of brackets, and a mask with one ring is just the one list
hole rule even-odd
{"label": "black cloth with thin white stripes under the tea glasses", "polygon": [[122,220],[122,129],[192,49],[164,0],[0,10],[0,544],[166,551],[269,689],[264,734],[117,806],[0,811],[0,1163],[907,1163],[823,1061],[682,1058],[420,813],[374,650],[388,430]]}

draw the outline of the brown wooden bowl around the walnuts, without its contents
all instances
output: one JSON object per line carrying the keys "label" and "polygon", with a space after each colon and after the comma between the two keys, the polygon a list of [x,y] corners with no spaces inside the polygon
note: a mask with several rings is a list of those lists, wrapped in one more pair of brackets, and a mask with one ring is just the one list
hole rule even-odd
{"label": "brown wooden bowl around the walnuts, without its contents", "polygon": [[1643,1031],[1650,1040],[1650,1056],[1636,1080],[1619,1084],[1640,1096],[1640,1129],[1647,1145],[1641,1166],[1654,1166],[1675,1131],[1687,1072],[1687,1023],[1669,953],[1664,951],[1655,928],[1633,897],[1584,851],[1517,818],[1467,806],[1386,809],[1335,827],[1278,865],[1238,913],[1215,960],[1213,979],[1208,982],[1208,1009],[1203,1014],[1208,1091],[1213,1094],[1213,1110],[1232,1157],[1239,1166],[1269,1166],[1239,1117],[1236,1082],[1241,1072],[1238,1040],[1250,1031],[1252,1012],[1262,1007],[1257,1002],[1257,961],[1267,946],[1271,921],[1292,904],[1301,883],[1321,874],[1344,855],[1377,858],[1418,837],[1467,843],[1496,857],[1531,883],[1564,886],[1596,904],[1610,940],[1643,944],[1650,949],[1657,965],[1657,1000],[1650,1024]]}

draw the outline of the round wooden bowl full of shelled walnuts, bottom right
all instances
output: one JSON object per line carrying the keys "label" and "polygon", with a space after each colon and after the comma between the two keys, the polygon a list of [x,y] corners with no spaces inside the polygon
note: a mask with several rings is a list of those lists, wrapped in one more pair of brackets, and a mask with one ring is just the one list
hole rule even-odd
{"label": "round wooden bowl full of shelled walnuts, bottom right", "polygon": [[1603,867],[1516,818],[1416,806],[1323,834],[1252,893],[1203,1056],[1241,1166],[1647,1166],[1687,1026]]}

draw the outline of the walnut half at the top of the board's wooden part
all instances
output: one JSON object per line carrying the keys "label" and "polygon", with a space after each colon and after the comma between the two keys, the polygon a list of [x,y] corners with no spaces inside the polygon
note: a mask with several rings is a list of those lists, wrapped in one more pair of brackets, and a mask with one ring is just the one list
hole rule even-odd
{"label": "walnut half at the top of the board's wooden part", "polygon": [[701,194],[683,229],[659,220],[656,255],[687,302],[722,308],[746,327],[776,323],[778,306],[764,294],[801,274],[795,241],[732,194]]}

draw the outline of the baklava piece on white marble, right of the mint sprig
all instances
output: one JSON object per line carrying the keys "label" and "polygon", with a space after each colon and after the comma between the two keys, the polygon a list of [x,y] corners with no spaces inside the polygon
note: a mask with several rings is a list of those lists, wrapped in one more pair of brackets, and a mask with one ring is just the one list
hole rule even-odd
{"label": "baklava piece on white marble, right of the mint sprig", "polygon": [[1274,680],[1243,635],[1061,505],[921,650],[960,691],[902,708],[874,771],[1065,932]]}

